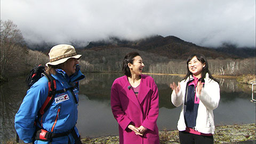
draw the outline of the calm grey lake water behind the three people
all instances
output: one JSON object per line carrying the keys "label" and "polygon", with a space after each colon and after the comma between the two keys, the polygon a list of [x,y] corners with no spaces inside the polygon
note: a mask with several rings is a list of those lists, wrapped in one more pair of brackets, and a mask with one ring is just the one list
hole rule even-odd
{"label": "calm grey lake water behind the three people", "polygon": [[[122,74],[86,74],[80,83],[77,127],[83,138],[118,135],[118,124],[111,113],[110,88]],[[170,82],[179,76],[151,75],[159,91],[159,130],[176,130],[181,107],[171,103]],[[219,107],[213,111],[215,125],[255,123],[255,103],[251,89],[242,88],[236,79],[218,79],[221,88]],[[1,143],[15,138],[14,115],[26,94],[25,77],[1,86]]]}

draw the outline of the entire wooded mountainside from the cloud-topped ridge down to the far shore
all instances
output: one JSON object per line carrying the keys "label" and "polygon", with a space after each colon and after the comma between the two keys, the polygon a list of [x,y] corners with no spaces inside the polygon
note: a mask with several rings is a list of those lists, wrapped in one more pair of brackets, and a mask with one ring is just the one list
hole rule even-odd
{"label": "entire wooded mountainside from the cloud-topped ridge down to the far shore", "polygon": [[[79,47],[81,44],[78,42],[72,45],[76,47],[77,53],[83,55],[81,70],[87,72],[121,73],[124,55],[132,51],[140,53],[146,66],[143,71],[146,73],[186,74],[185,61],[193,53],[205,55],[213,68],[212,74],[241,75],[253,74],[255,71],[255,48],[238,49],[235,45],[224,44],[213,49],[175,36],[152,36],[137,41],[110,37],[104,41],[90,42],[85,47]],[[52,46],[38,45],[48,47],[43,49],[46,55]]]}

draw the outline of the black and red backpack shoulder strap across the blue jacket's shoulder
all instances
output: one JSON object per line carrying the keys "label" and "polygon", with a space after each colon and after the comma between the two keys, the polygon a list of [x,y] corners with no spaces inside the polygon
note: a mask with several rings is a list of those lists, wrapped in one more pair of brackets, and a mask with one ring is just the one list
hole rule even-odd
{"label": "black and red backpack shoulder strap across the blue jacket's shoulder", "polygon": [[52,101],[53,101],[53,97],[56,93],[56,80],[55,78],[53,78],[51,75],[47,75],[46,73],[42,73],[48,80],[48,87],[49,87],[49,91],[48,91],[48,95],[46,100],[44,101],[42,107],[39,110],[39,114],[38,115],[43,115],[45,113],[45,111],[47,111],[47,109],[49,109],[49,107],[52,105]]}

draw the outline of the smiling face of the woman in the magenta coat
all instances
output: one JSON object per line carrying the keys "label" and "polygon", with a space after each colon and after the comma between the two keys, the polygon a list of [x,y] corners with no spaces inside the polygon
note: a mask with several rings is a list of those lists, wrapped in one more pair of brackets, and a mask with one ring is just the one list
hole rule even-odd
{"label": "smiling face of the woman in the magenta coat", "polygon": [[135,75],[141,75],[142,74],[142,69],[145,66],[143,63],[142,58],[138,55],[136,57],[133,58],[133,64],[132,63],[128,63],[128,66],[130,68],[131,74],[135,74]]}

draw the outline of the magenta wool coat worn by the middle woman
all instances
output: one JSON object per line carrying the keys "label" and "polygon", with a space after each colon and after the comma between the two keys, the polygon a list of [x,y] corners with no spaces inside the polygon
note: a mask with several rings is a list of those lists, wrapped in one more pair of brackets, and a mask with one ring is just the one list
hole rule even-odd
{"label": "magenta wool coat worn by the middle woman", "polygon": [[[157,144],[158,90],[154,79],[141,75],[138,98],[130,88],[127,76],[115,79],[111,87],[111,109],[119,124],[119,143]],[[148,130],[143,136],[136,135],[127,126],[144,126]]]}

